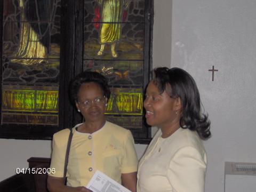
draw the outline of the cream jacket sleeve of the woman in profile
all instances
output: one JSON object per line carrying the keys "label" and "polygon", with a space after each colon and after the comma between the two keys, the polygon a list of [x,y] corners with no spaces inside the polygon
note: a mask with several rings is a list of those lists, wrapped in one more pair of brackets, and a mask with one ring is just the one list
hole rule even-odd
{"label": "cream jacket sleeve of the woman in profile", "polygon": [[179,149],[169,164],[167,179],[175,191],[204,192],[206,163],[197,149]]}

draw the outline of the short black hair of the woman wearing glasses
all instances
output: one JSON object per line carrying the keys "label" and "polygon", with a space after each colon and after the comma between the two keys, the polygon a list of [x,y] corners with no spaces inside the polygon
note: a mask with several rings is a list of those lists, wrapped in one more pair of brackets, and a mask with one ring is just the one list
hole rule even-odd
{"label": "short black hair of the woman wearing glasses", "polygon": [[83,71],[75,76],[70,83],[70,99],[75,103],[78,101],[77,94],[82,84],[97,83],[102,90],[103,96],[110,98],[110,89],[106,77],[94,71]]}

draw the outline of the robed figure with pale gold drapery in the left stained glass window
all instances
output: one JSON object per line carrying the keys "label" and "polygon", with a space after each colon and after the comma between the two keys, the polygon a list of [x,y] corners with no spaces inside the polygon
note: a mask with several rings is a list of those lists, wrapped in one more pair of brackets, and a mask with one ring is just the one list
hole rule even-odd
{"label": "robed figure with pale gold drapery in the left stained glass window", "polygon": [[45,21],[50,20],[52,9],[50,0],[19,0],[19,46],[12,62],[33,65],[45,61],[50,45],[50,26]]}

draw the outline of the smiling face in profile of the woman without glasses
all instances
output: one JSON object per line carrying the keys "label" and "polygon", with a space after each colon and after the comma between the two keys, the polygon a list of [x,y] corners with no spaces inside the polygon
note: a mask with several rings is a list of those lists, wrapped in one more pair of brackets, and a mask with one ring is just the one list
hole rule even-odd
{"label": "smiling face in profile of the woman without glasses", "polygon": [[166,91],[160,93],[152,81],[147,86],[143,106],[146,109],[145,117],[148,125],[165,129],[179,123],[180,113],[177,115],[180,110],[179,98],[171,98]]}

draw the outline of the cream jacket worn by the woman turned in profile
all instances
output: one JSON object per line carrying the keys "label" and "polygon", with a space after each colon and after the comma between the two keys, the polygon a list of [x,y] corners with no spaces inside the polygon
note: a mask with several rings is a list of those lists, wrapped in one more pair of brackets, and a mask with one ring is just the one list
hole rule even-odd
{"label": "cream jacket worn by the woman turned in profile", "polygon": [[197,132],[159,129],[139,162],[137,192],[203,192],[206,154]]}

